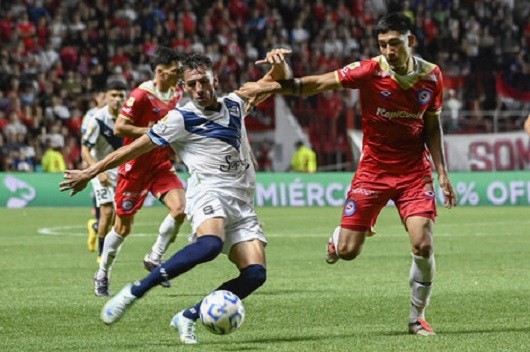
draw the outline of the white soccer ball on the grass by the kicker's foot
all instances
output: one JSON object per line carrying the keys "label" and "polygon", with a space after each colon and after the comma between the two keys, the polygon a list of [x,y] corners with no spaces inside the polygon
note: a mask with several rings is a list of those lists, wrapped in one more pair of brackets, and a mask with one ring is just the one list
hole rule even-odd
{"label": "white soccer ball on the grass by the kicker's foot", "polygon": [[201,303],[199,312],[202,324],[210,332],[227,335],[236,331],[245,319],[243,302],[230,291],[214,291]]}

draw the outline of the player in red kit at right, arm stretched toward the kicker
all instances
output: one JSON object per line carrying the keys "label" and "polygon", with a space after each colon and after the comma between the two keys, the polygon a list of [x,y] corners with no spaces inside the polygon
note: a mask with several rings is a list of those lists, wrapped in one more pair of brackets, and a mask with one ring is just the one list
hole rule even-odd
{"label": "player in red kit at right, arm stretched toward the kicker", "polygon": [[[359,89],[363,149],[351,182],[342,221],[328,241],[326,261],[352,260],[363,248],[381,209],[394,201],[412,245],[409,332],[434,335],[425,321],[435,274],[433,229],[436,217],[431,159],[450,208],[457,197],[442,148],[442,74],[438,66],[412,55],[416,38],[410,20],[389,14],[375,32],[381,55],[337,71],[284,81],[247,83],[261,94],[313,95],[340,88]],[[257,64],[279,64],[277,58]]]}

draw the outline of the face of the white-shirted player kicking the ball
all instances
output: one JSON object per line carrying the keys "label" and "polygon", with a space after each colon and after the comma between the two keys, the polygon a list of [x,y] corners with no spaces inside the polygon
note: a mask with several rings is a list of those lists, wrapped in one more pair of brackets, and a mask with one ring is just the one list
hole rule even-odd
{"label": "face of the white-shirted player kicking the ball", "polygon": [[217,77],[211,70],[199,67],[184,71],[184,89],[198,106],[206,108],[217,105],[216,87]]}

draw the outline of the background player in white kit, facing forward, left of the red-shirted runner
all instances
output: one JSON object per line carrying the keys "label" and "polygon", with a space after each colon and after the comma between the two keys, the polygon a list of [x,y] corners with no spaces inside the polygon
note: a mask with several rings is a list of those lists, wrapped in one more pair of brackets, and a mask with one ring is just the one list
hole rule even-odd
{"label": "background player in white kit, facing forward, left of the red-shirted runner", "polygon": [[[127,86],[122,81],[109,82],[105,93],[107,105],[97,110],[94,117],[87,121],[81,148],[84,160],[89,166],[102,160],[123,144],[122,138],[114,135],[114,122],[125,100],[126,90]],[[109,231],[114,217],[114,190],[117,180],[117,168],[101,172],[92,180],[96,206],[100,209],[97,235],[99,237],[99,250],[102,254],[99,263],[100,269],[94,277],[96,296],[109,295],[108,275],[106,275],[108,258],[105,257],[104,252],[102,253],[102,248],[105,235]],[[105,275],[102,275],[101,272],[104,272]]]}

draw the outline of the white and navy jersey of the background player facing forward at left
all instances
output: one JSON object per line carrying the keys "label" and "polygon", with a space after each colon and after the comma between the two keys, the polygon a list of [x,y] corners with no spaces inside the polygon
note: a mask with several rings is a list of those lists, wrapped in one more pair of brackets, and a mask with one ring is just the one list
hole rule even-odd
{"label": "white and navy jersey of the background player facing forward at left", "polygon": [[[90,155],[96,160],[105,158],[123,144],[123,139],[114,135],[115,117],[111,115],[108,105],[98,109],[93,117],[87,118],[86,130],[82,143],[90,149]],[[117,168],[108,172],[117,173]]]}

